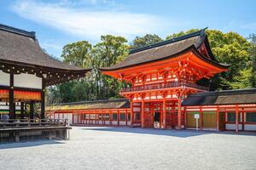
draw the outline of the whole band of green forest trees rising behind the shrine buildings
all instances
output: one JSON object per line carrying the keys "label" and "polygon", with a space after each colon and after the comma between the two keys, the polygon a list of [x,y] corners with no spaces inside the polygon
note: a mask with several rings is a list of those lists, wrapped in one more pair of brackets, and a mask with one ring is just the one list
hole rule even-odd
{"label": "whole band of green forest trees rising behind the shrine buildings", "polygon": [[[100,67],[114,65],[128,56],[129,49],[141,48],[155,42],[199,31],[191,29],[172,34],[165,39],[155,34],[136,37],[128,43],[125,37],[106,35],[96,45],[87,41],[65,45],[61,59],[68,64],[91,68],[86,77],[47,88],[47,104],[97,99],[121,98],[119,90],[129,86],[113,77],[102,75]],[[220,73],[210,80],[197,82],[210,90],[256,87],[256,34],[242,37],[236,32],[206,31],[212,53],[219,62],[230,64],[230,71]]]}

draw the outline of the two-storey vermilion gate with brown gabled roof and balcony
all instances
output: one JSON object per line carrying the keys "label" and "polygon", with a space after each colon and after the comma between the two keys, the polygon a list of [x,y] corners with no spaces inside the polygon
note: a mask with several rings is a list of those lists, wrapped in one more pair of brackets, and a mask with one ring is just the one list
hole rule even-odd
{"label": "two-storey vermilion gate with brown gabled roof and balcony", "polygon": [[207,91],[196,84],[201,78],[227,71],[212,54],[205,30],[131,50],[102,73],[130,82],[120,94],[131,100],[131,124],[142,127],[185,127],[182,100]]}

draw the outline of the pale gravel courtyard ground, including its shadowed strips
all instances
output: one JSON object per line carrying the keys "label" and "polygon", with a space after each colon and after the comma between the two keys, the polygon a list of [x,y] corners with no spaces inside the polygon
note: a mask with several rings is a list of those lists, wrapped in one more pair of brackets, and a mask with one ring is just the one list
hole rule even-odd
{"label": "pale gravel courtyard ground, including its shadowed strips", "polygon": [[256,133],[73,127],[66,141],[0,144],[0,170],[256,169]]}

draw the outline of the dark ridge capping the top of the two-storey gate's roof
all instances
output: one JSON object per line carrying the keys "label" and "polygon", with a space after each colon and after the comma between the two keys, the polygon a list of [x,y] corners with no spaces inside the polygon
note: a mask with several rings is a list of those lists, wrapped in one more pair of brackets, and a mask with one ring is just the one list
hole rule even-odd
{"label": "dark ridge capping the top of the two-storey gate's roof", "polygon": [[190,38],[190,37],[202,36],[202,35],[205,35],[205,30],[206,29],[207,29],[207,27],[204,28],[204,29],[201,29],[200,31],[195,31],[195,32],[192,32],[192,33],[180,36],[180,37],[174,37],[170,40],[164,40],[162,42],[156,42],[154,44],[150,44],[150,45],[142,47],[142,48],[134,48],[134,49],[130,50],[129,54],[135,54],[137,52],[141,52],[143,50],[147,50],[147,49],[150,49],[150,48],[157,48],[157,47],[160,47],[162,45],[166,45],[166,44],[169,44],[169,43],[172,43],[172,42],[182,41],[182,40]]}

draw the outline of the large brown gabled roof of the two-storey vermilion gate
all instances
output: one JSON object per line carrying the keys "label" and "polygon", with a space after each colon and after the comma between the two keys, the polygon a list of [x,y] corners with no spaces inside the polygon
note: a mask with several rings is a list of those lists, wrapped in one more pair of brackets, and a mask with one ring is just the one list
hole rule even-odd
{"label": "large brown gabled roof of the two-storey vermilion gate", "polygon": [[[210,59],[207,59],[206,56],[203,58],[211,62],[213,65],[226,68],[228,65],[218,63],[217,59],[215,59],[213,56],[209,47],[205,29],[203,29],[201,31],[196,31],[185,36],[172,38],[163,42],[157,42],[153,45],[149,45],[143,48],[132,49],[126,59],[116,65],[101,68],[101,70],[115,71],[135,65],[143,65],[161,59],[170,59],[175,57],[177,54],[188,51],[189,49],[197,50],[197,48],[199,48],[203,42],[205,42],[207,51],[209,51]],[[197,53],[199,52],[197,51]]]}

